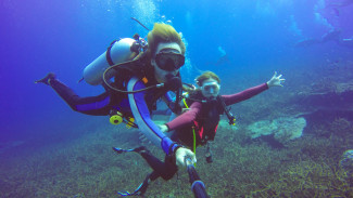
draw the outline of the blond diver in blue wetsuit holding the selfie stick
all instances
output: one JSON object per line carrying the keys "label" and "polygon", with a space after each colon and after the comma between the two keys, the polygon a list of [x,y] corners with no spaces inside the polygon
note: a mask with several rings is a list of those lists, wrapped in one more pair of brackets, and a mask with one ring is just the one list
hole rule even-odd
{"label": "blond diver in blue wetsuit holding the selfie stick", "polygon": [[[93,116],[114,114],[121,118],[117,122],[126,121],[128,126],[138,127],[154,145],[164,150],[166,158],[172,159],[175,167],[186,166],[185,157],[196,162],[196,156],[190,149],[173,142],[151,119],[151,113],[156,108],[159,98],[163,98],[175,113],[179,109],[177,104],[173,104],[167,92],[175,91],[176,95],[180,94],[179,68],[185,64],[186,51],[181,37],[171,25],[156,23],[148,34],[146,52],[139,52],[139,47],[147,45],[141,45],[138,38],[135,40],[128,44],[123,41],[113,42],[103,55],[92,62],[93,68],[85,69],[88,72],[86,76],[84,74],[86,81],[91,80],[91,84],[103,82],[105,92],[100,95],[80,97],[60,82],[54,74],[47,75],[36,83],[51,87],[75,111]],[[119,49],[119,44],[123,49]],[[119,60],[123,63],[114,63],[114,50],[119,53],[119,57],[124,56]],[[104,74],[91,74],[102,70],[94,68],[94,64],[101,62],[108,62],[112,66],[103,69]],[[110,76],[114,81],[106,78]]]}

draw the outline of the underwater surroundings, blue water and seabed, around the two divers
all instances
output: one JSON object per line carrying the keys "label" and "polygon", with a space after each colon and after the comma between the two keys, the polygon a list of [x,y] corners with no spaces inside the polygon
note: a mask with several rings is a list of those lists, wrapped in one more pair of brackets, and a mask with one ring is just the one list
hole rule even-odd
{"label": "underwater surroundings, blue water and seabed, around the two divers", "polygon": [[[102,93],[83,69],[110,43],[173,25],[187,44],[182,80],[222,79],[222,94],[264,83],[283,88],[239,104],[197,150],[211,197],[353,197],[352,0],[30,0],[0,2],[0,197],[117,197],[150,173],[138,130],[73,111],[34,81],[49,71],[80,96]],[[156,116],[165,121],[166,116]],[[192,197],[186,171],[153,182],[147,197]]]}

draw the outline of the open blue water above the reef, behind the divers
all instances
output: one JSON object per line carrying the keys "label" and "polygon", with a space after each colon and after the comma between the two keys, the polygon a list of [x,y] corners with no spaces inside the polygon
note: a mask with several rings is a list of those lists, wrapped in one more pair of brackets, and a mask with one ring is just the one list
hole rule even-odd
{"label": "open blue water above the reef, behind the divers", "polygon": [[[275,70],[286,76],[299,68],[310,71],[328,62],[353,60],[352,48],[333,41],[294,48],[299,40],[320,39],[332,29],[340,29],[342,38],[353,36],[353,3],[337,13],[329,6],[332,2],[337,1],[2,0],[0,142],[50,134],[62,134],[64,141],[72,133],[66,129],[94,120],[72,111],[53,90],[34,80],[53,71],[79,95],[101,93],[102,88],[77,81],[114,39],[135,32],[147,36],[131,16],[149,28],[164,22],[182,32],[188,42],[186,81],[192,82],[198,68],[214,70],[228,82],[242,75],[263,75],[244,82],[255,85]],[[219,48],[229,60],[216,65]]]}

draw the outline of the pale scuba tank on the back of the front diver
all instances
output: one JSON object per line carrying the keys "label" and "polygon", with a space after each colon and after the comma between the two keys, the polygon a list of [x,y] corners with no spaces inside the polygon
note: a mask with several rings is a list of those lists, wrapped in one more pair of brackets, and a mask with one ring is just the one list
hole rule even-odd
{"label": "pale scuba tank on the back of the front diver", "polygon": [[[102,84],[102,76],[106,68],[115,64],[134,60],[141,49],[144,50],[146,48],[147,42],[138,35],[135,35],[134,39],[124,38],[118,41],[113,41],[104,53],[84,69],[85,81],[91,85]],[[111,69],[105,76],[110,79],[115,72],[114,69]]]}

